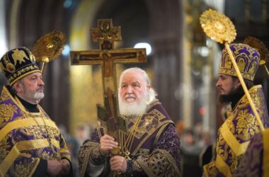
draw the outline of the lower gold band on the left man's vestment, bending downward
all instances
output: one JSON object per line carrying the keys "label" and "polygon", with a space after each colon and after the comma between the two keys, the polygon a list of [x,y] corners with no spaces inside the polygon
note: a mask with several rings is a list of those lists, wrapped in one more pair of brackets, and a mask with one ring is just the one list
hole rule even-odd
{"label": "lower gold band on the left man's vestment, bending downward", "polygon": [[[55,147],[59,148],[59,142],[55,139],[51,139],[51,142]],[[58,145],[57,145],[58,144]],[[30,150],[30,149],[40,149],[44,147],[49,147],[49,142],[47,139],[34,139],[34,140],[28,140],[28,141],[22,141],[16,143],[11,151],[8,153],[6,158],[2,161],[0,164],[0,172],[1,176],[4,176],[6,174],[6,171],[10,168],[11,164],[17,159],[17,157],[21,154],[20,151],[23,150]]]}

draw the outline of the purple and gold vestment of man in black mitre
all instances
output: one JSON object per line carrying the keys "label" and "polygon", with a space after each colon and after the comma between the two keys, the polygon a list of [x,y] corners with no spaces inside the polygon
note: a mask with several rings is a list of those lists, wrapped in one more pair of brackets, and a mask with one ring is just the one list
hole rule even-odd
{"label": "purple and gold vestment of man in black mitre", "polygon": [[[41,160],[69,159],[59,128],[38,105],[30,113],[6,86],[0,98],[0,176],[33,176]],[[45,175],[45,174],[44,174]]]}

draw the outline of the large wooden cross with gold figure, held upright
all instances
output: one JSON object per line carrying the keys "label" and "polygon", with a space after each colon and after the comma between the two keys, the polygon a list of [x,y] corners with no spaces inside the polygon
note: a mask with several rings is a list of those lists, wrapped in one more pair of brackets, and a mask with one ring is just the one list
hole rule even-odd
{"label": "large wooden cross with gold figure, held upright", "polygon": [[98,119],[106,122],[108,135],[118,139],[118,131],[126,132],[127,125],[118,112],[115,64],[147,62],[147,55],[145,49],[114,49],[114,42],[121,40],[120,27],[113,27],[111,19],[97,22],[98,28],[91,28],[91,40],[99,42],[100,50],[71,51],[71,64],[102,64],[105,107],[97,104]]}

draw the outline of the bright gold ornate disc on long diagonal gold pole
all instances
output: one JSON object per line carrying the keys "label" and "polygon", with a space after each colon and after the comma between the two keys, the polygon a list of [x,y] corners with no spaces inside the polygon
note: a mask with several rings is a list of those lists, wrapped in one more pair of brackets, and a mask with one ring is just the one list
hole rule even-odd
{"label": "bright gold ornate disc on long diagonal gold pole", "polygon": [[200,16],[200,23],[202,25],[202,29],[208,37],[221,44],[224,43],[229,57],[231,58],[231,63],[233,64],[239,81],[244,89],[246,98],[248,98],[248,102],[251,105],[251,109],[253,110],[256,120],[258,121],[258,125],[260,125],[261,130],[264,130],[261,118],[257,113],[255,105],[253,104],[253,101],[251,99],[251,95],[246,88],[244,79],[239,71],[239,67],[236,64],[234,55],[232,54],[229,47],[229,43],[234,41],[234,39],[236,38],[236,30],[234,28],[234,24],[227,16],[224,16],[222,13],[219,13],[217,11],[213,11],[212,9],[209,9],[202,13],[202,15]]}

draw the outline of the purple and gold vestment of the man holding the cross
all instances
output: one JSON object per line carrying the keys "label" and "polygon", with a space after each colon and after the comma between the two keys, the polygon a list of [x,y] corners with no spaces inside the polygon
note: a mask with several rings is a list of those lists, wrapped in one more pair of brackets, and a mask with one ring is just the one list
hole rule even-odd
{"label": "purple and gold vestment of the man holding the cross", "polygon": [[[132,130],[137,118],[128,119],[128,132]],[[80,176],[88,176],[87,169],[93,164],[104,164],[101,176],[113,176],[110,171],[109,157],[101,155],[99,142],[100,126],[81,146],[79,152]],[[127,139],[127,135],[125,135]],[[147,113],[142,115],[135,138],[130,148],[130,160],[127,160],[127,171],[120,176],[181,176],[180,142],[172,120],[158,100],[151,102]],[[89,163],[91,161],[91,163]]]}

